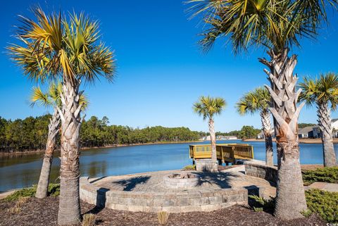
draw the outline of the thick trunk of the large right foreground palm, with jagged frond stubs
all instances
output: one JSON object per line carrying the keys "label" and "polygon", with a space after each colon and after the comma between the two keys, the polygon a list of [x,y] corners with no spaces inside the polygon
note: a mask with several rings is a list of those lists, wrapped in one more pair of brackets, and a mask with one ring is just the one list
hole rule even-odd
{"label": "thick trunk of the large right foreground palm, with jagged frond stubs", "polygon": [[267,65],[272,87],[265,86],[273,99],[269,108],[275,118],[278,177],[275,215],[282,219],[301,218],[305,211],[306,199],[299,163],[298,118],[304,103],[297,107],[301,90],[295,91],[298,77],[293,75],[296,55],[288,56],[289,49],[281,53],[268,52],[271,61],[264,58],[259,61]]}

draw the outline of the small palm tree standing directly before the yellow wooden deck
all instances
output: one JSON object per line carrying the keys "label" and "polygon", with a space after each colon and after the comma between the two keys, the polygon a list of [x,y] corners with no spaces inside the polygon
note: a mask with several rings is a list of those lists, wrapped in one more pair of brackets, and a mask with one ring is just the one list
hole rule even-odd
{"label": "small palm tree standing directly before the yellow wooden deck", "polygon": [[217,156],[216,156],[216,137],[215,137],[215,125],[213,117],[219,115],[225,108],[226,103],[223,98],[201,96],[199,101],[194,103],[194,112],[201,115],[203,120],[208,119],[208,126],[211,140],[211,160],[213,161],[213,168],[211,171],[217,171]]}

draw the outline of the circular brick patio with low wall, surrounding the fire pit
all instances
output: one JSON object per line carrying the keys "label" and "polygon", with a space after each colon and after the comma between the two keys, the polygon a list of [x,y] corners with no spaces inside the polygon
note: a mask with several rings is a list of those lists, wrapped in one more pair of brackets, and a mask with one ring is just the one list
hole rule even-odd
{"label": "circular brick patio with low wall, surrounding the fire pit", "polygon": [[[181,170],[146,172],[134,175],[80,178],[80,199],[96,206],[122,211],[192,212],[214,211],[235,204],[246,204],[248,191],[263,194],[270,184],[242,172],[196,172],[200,180],[196,187],[169,188],[164,177]],[[187,172],[187,171],[184,171]],[[259,183],[257,183],[257,181]],[[254,185],[259,184],[260,186]]]}

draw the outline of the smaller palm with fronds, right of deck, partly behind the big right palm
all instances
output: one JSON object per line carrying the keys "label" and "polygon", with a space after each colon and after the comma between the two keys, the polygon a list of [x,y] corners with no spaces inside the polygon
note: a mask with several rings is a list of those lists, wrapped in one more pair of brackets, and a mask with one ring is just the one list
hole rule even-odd
{"label": "smaller palm with fronds, right of deck, partly behind the big right palm", "polygon": [[270,106],[271,97],[267,89],[258,87],[257,89],[244,94],[236,103],[239,114],[253,114],[259,112],[263,133],[265,137],[265,162],[266,165],[273,165],[273,130],[271,128]]}

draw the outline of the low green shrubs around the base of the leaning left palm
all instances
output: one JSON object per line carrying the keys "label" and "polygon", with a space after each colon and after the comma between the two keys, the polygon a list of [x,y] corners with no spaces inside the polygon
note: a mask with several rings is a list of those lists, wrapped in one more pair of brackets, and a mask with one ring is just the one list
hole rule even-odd
{"label": "low green shrubs around the base of the leaning left palm", "polygon": [[[13,194],[7,196],[4,200],[5,201],[16,201],[20,197],[33,197],[35,196],[35,193],[37,192],[37,185],[33,185],[32,187],[27,187],[20,189]],[[49,196],[58,196],[60,195],[60,184],[49,184],[48,187],[48,195]]]}

